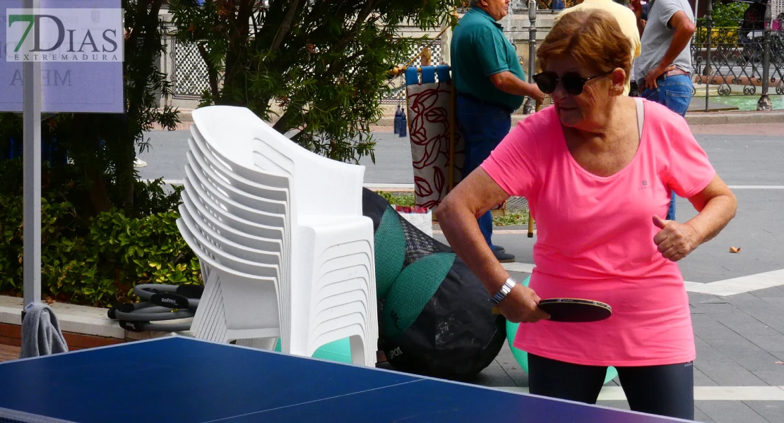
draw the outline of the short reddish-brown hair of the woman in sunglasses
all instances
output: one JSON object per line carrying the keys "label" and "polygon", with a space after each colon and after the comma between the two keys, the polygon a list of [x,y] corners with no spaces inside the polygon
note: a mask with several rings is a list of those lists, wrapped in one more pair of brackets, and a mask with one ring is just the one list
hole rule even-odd
{"label": "short reddish-brown hair of the woman in sunglasses", "polygon": [[631,41],[610,13],[601,9],[575,10],[561,16],[536,51],[536,59],[541,69],[546,70],[550,57],[569,55],[598,72],[621,68],[628,80],[631,48]]}

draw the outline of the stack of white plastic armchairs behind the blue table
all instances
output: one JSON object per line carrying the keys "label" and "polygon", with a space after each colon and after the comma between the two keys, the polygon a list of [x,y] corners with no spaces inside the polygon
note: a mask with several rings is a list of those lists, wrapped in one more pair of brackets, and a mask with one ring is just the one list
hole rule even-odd
{"label": "stack of white plastic armchairs behind the blue table", "polygon": [[307,151],[249,109],[196,109],[177,225],[201,260],[191,332],[310,357],[349,338],[376,363],[372,220],[365,168]]}

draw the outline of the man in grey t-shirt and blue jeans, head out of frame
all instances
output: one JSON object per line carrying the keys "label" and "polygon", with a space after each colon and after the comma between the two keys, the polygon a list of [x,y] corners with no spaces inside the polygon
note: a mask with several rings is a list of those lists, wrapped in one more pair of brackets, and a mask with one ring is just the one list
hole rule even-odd
{"label": "man in grey t-shirt and blue jeans, head out of frame", "polygon": [[[697,29],[687,0],[648,2],[648,20],[642,20],[640,0],[632,0],[637,16],[641,52],[634,61],[634,81],[640,96],[684,116],[691,103],[691,36]],[[667,220],[675,219],[675,192]]]}

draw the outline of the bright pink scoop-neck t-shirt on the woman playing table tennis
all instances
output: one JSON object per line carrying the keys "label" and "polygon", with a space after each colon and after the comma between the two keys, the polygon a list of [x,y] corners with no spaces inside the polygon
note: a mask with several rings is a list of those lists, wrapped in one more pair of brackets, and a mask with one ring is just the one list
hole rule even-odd
{"label": "bright pink scoop-neck t-shirt on the woman playing table tennis", "polygon": [[654,214],[666,216],[670,190],[691,197],[716,174],[683,118],[644,102],[636,155],[617,174],[599,177],[574,160],[550,107],[517,124],[481,167],[506,193],[528,199],[537,228],[536,294],[612,306],[604,321],[521,324],[514,346],[596,366],[695,359],[684,279],[657,251],[652,222]]}

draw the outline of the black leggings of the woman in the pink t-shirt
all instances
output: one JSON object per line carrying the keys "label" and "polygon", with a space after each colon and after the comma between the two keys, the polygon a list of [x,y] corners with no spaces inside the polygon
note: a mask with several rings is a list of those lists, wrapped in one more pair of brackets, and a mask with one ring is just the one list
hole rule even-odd
{"label": "black leggings of the woman in the pink t-shirt", "polygon": [[[691,362],[615,367],[634,411],[694,420],[694,367]],[[528,385],[541,396],[596,403],[607,367],[564,363],[528,354]]]}

